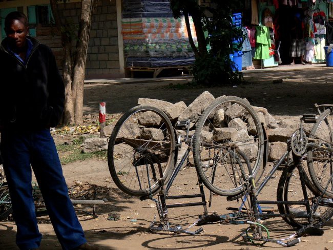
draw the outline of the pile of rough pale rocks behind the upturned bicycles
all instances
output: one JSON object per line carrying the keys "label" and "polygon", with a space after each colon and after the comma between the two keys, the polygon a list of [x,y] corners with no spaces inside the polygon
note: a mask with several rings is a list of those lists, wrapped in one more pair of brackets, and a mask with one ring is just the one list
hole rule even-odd
{"label": "pile of rough pale rocks behind the upturned bicycles", "polygon": [[[150,105],[162,110],[171,120],[173,125],[184,119],[190,120],[190,136],[194,134],[195,131],[195,122],[199,119],[205,108],[207,108],[210,103],[214,100],[214,96],[210,92],[203,92],[198,96],[189,106],[183,101],[177,103],[171,103],[168,101],[149,99],[149,98],[139,98],[139,105]],[[246,99],[244,99],[247,101]],[[266,134],[269,141],[269,160],[274,161],[281,157],[287,149],[286,141],[292,136],[292,134],[298,129],[299,124],[293,121],[285,120],[276,120],[272,115],[270,115],[267,109],[263,107],[252,106],[256,111],[259,120],[264,124]],[[149,119],[142,118],[142,119]],[[238,126],[237,120],[234,119],[235,124],[233,126]],[[229,125],[228,127],[230,127]],[[232,126],[231,126],[232,127]],[[114,124],[110,124],[105,127],[104,133],[105,136],[110,137]],[[177,129],[178,135],[185,135],[186,131]],[[94,150],[96,150],[96,145],[99,144],[98,141],[101,140],[101,147],[99,149],[107,148],[107,138],[89,138],[85,142],[84,151],[91,152],[91,145],[94,145]],[[98,148],[98,147],[97,147]],[[98,150],[98,149],[97,149]],[[191,161],[190,157],[190,161]],[[192,163],[192,162],[191,162]]]}

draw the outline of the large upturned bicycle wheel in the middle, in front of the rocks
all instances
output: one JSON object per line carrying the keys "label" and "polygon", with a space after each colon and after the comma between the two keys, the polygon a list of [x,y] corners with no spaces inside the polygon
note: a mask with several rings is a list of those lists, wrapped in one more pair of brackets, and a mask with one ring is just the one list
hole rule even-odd
{"label": "large upturned bicycle wheel in the middle, in front of the rocks", "polygon": [[195,166],[204,185],[215,194],[236,196],[243,192],[242,186],[235,182],[230,161],[233,148],[245,153],[253,175],[261,172],[264,150],[261,123],[249,103],[239,97],[216,98],[198,120],[193,141]]}

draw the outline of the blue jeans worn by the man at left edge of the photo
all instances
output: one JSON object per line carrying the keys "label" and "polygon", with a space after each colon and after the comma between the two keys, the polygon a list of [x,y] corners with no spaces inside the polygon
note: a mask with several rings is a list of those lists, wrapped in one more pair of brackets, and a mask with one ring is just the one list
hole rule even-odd
{"label": "blue jeans worn by the man at left edge of the photo", "polygon": [[17,225],[18,247],[37,248],[41,240],[32,197],[30,164],[63,249],[73,249],[85,243],[50,130],[4,131],[1,154]]}

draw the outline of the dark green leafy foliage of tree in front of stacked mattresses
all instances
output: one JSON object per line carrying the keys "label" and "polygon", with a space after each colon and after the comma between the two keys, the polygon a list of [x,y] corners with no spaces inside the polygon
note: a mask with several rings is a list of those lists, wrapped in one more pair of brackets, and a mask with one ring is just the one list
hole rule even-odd
{"label": "dark green leafy foliage of tree in front of stacked mattresses", "polygon": [[[201,19],[201,27],[208,36],[198,43],[210,44],[208,53],[199,53],[192,68],[194,82],[198,85],[216,86],[235,84],[242,74],[233,72],[234,63],[229,55],[241,50],[244,35],[232,23],[232,13],[242,9],[241,0],[211,0],[211,6],[200,6],[197,0],[170,0],[174,17],[189,14]],[[201,47],[203,48],[203,46]]]}

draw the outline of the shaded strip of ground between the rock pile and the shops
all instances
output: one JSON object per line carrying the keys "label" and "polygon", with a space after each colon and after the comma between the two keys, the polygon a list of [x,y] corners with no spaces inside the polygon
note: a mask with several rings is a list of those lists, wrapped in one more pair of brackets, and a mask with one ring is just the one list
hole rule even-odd
{"label": "shaded strip of ground between the rock pile and the shops", "polygon": [[[244,74],[246,82],[238,86],[169,88],[171,81],[141,84],[86,85],[84,111],[98,114],[98,102],[107,102],[107,113],[126,112],[137,105],[138,98],[153,98],[189,105],[203,91],[214,97],[234,95],[246,98],[253,106],[267,108],[272,115],[317,113],[314,103],[331,103],[333,77],[326,67],[295,71],[267,71]],[[282,83],[273,84],[273,80]],[[181,84],[185,84],[181,81]],[[175,84],[175,82],[173,82]],[[167,88],[168,87],[168,88]],[[98,99],[100,98],[100,99]]]}

